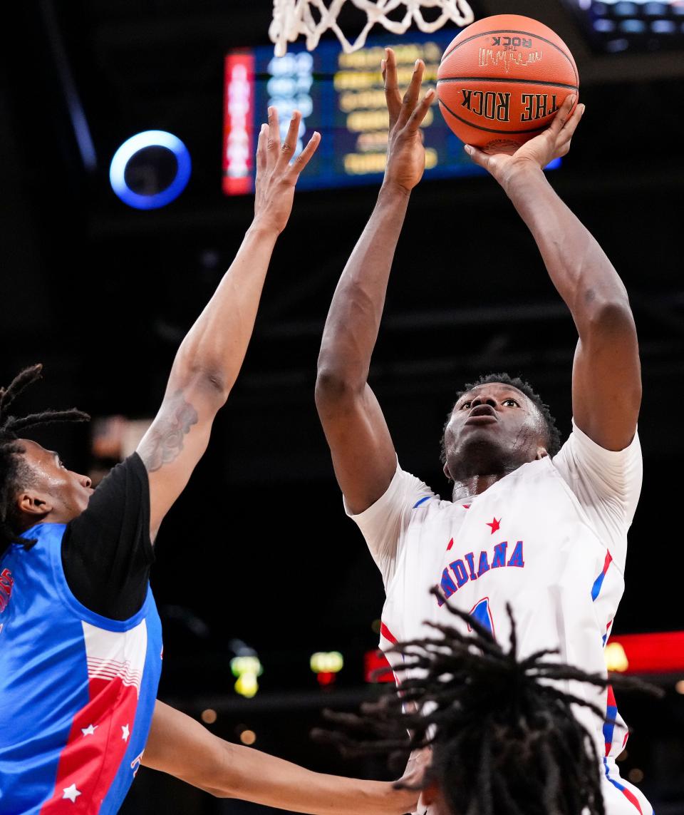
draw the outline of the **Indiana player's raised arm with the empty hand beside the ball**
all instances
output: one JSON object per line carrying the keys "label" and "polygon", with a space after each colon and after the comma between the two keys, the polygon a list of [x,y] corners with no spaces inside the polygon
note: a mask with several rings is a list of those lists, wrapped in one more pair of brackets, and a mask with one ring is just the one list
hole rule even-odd
{"label": "Indiana player's raised arm with the empty hand beside the ball", "polygon": [[316,407],[330,445],[335,476],[353,513],[387,489],[397,456],[383,412],[368,385],[394,251],[410,192],[425,168],[420,123],[432,102],[419,102],[424,65],[417,60],[403,100],[392,49],[383,60],[389,111],[388,159],[378,201],[335,289],[316,378]]}

